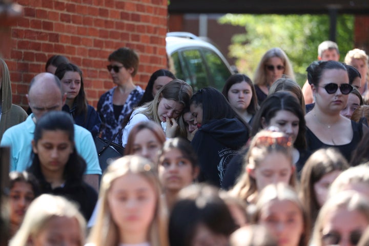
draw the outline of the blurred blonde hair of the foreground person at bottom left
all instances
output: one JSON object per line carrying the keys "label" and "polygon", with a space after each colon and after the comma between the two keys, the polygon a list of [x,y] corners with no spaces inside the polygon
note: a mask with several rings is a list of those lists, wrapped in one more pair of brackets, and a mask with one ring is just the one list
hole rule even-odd
{"label": "blurred blonde hair of the foreground person at bottom left", "polygon": [[75,218],[80,230],[80,245],[84,245],[86,221],[76,205],[64,197],[43,194],[32,201],[22,225],[10,240],[9,246],[29,245],[29,238],[37,236],[45,229],[46,223],[55,217]]}

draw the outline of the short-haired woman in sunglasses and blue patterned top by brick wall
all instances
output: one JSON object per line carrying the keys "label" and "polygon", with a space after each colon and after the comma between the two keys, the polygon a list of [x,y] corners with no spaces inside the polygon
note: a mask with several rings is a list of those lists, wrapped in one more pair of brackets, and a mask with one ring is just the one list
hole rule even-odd
{"label": "short-haired woman in sunglasses and blue patterned top by brick wall", "polygon": [[[109,55],[108,71],[115,87],[101,95],[97,103],[97,113],[102,124],[101,137],[119,144],[121,129],[126,115],[130,114],[144,95],[144,90],[133,84],[137,73],[138,55],[129,48],[119,48]],[[120,137],[118,137],[120,135]]]}

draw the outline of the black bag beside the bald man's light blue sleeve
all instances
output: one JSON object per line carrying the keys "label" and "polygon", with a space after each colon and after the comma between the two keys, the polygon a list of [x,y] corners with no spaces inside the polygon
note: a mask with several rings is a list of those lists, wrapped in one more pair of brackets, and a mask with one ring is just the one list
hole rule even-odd
{"label": "black bag beside the bald man's light blue sleeve", "polygon": [[116,135],[114,135],[110,141],[100,137],[94,138],[100,168],[103,173],[113,160],[124,155],[124,148],[113,142],[113,139],[115,139]]}

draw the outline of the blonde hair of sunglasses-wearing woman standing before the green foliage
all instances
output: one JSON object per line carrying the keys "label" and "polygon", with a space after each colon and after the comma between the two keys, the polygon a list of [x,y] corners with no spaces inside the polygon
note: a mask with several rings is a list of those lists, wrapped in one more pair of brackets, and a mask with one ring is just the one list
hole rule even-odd
{"label": "blonde hair of sunglasses-wearing woman standing before the green foliage", "polygon": [[256,68],[254,75],[254,84],[265,86],[267,85],[267,75],[265,73],[265,65],[267,61],[272,57],[278,57],[282,60],[284,66],[284,74],[288,75],[292,80],[295,80],[295,74],[292,69],[291,61],[284,53],[281,48],[272,48],[265,52],[265,54],[261,57],[261,60]]}

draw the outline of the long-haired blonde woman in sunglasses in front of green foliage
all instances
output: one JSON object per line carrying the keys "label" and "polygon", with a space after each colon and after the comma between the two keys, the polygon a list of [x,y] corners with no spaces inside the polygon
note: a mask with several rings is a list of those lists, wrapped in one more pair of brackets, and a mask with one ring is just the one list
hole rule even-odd
{"label": "long-haired blonde woman in sunglasses in front of green foliage", "polygon": [[254,83],[259,105],[267,98],[270,86],[282,77],[282,74],[295,80],[288,56],[280,48],[272,48],[265,52],[255,71]]}

